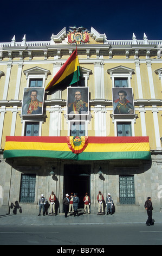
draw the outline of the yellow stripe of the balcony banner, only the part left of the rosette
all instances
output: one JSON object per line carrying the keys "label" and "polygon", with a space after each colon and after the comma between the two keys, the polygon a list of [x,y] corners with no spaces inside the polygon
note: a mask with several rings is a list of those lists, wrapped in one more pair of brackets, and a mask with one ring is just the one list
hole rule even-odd
{"label": "yellow stripe of the balcony banner, only the part left of the rosette", "polygon": [[4,150],[54,150],[71,151],[67,143],[5,142]]}

